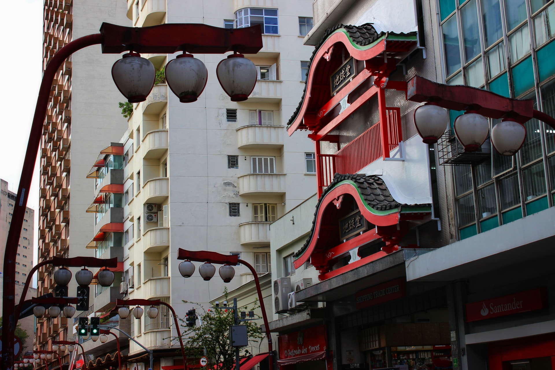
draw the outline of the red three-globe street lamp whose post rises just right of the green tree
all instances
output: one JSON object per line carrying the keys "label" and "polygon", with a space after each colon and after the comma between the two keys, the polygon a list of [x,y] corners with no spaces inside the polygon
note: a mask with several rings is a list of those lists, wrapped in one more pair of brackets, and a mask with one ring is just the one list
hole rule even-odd
{"label": "red three-globe street lamp whose post rises just right of the green tree", "polygon": [[[262,318],[264,320],[264,328],[266,331],[266,338],[268,339],[268,368],[269,370],[274,370],[274,353],[272,348],[272,336],[270,333],[270,326],[268,325],[268,315],[266,315],[266,309],[264,308],[264,299],[262,296],[262,291],[260,289],[260,281],[258,280],[258,274],[254,267],[246,261],[241,260],[238,256],[223,255],[217,252],[210,251],[188,251],[185,249],[179,249],[178,260],[184,260],[179,264],[179,272],[184,277],[190,277],[195,266],[191,261],[195,262],[205,262],[204,265],[200,265],[199,273],[204,278],[204,280],[210,280],[216,268],[212,263],[218,263],[223,265],[220,267],[219,273],[224,282],[230,282],[235,275],[235,270],[231,266],[237,266],[239,263],[249,268],[253,273],[254,282],[256,284],[256,292],[258,293],[258,300],[260,301],[260,309],[262,310]],[[239,366],[238,366],[239,367]]]}

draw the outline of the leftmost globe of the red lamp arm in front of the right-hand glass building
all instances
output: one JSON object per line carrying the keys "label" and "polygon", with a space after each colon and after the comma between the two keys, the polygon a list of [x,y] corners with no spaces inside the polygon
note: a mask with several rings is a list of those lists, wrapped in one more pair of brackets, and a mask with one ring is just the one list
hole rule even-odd
{"label": "leftmost globe of the red lamp arm in front of the right-hand glass building", "polygon": [[413,116],[418,135],[426,144],[437,143],[449,122],[447,110],[434,103],[426,103],[416,108]]}

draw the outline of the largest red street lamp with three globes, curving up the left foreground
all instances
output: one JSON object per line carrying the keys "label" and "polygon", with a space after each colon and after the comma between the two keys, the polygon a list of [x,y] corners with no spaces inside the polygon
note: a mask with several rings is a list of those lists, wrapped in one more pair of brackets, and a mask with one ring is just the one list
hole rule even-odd
{"label": "largest red street lamp with three globes, curving up the left foreground", "polygon": [[[122,60],[114,63],[112,67],[114,82],[130,102],[144,101],[154,84],[154,79],[152,79],[152,84],[145,84],[145,80],[149,79],[141,79],[140,75],[137,74],[137,71],[141,71],[147,77],[153,71],[152,63],[141,58],[138,53],[173,54],[181,51],[186,56],[188,54],[185,52],[201,54],[233,52],[232,58],[225,59],[219,64],[216,73],[224,91],[230,95],[231,100],[238,102],[248,97],[256,82],[256,68],[252,62],[249,64],[242,54],[256,54],[263,47],[262,33],[258,26],[225,29],[206,24],[171,23],[140,28],[103,23],[100,27],[100,33],[75,39],[53,55],[46,69],[44,69],[39,89],[4,254],[4,300],[2,305],[4,326],[2,343],[4,345],[2,346],[1,367],[3,369],[11,369],[13,365],[13,333],[17,321],[17,316],[14,315],[16,252],[54,75],[69,55],[96,44],[102,45],[102,53],[104,54],[130,52],[124,55]],[[172,64],[171,67],[175,68],[170,68],[169,74],[166,75],[170,80],[172,91],[184,102],[196,100],[196,96],[204,88],[201,78],[204,74],[198,70],[201,66],[195,63],[196,67],[189,68],[191,65],[191,63],[176,63],[175,66]],[[236,65],[243,65],[243,68],[234,68]],[[229,75],[226,75],[226,73]],[[180,78],[190,79],[189,83],[180,83]],[[193,88],[193,91],[181,91],[189,88]],[[31,276],[31,274],[29,275]]]}

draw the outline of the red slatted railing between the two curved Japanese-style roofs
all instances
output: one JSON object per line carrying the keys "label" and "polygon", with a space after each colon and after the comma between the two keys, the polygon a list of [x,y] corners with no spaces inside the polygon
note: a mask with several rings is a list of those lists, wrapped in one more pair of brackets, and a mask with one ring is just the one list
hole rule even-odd
{"label": "red slatted railing between the two curved Japanese-style roofs", "polygon": [[[386,108],[388,149],[391,151],[402,140],[401,109]],[[381,124],[376,123],[335,154],[317,155],[317,181],[319,195],[322,188],[331,184],[336,173],[356,174],[384,155],[380,136]],[[319,145],[319,143],[316,143]]]}

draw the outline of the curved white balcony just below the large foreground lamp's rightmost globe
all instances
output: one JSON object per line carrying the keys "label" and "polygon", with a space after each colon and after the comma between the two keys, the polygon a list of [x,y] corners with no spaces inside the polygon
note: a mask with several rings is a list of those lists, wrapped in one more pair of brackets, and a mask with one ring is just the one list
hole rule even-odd
{"label": "curved white balcony just below the large foreground lamp's rightmost globe", "polygon": [[248,125],[237,130],[237,148],[281,148],[284,126]]}

